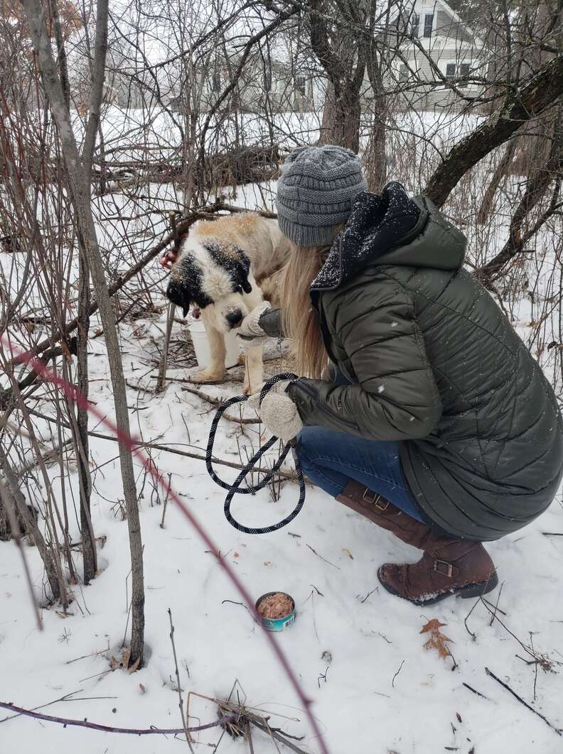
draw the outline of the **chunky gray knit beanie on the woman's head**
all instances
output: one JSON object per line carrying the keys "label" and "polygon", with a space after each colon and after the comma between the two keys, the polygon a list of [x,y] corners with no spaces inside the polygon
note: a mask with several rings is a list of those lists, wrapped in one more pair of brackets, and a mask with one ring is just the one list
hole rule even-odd
{"label": "chunky gray knit beanie on the woman's head", "polygon": [[351,149],[327,144],[300,146],[285,159],[278,180],[278,223],[298,246],[323,246],[346,222],[368,184]]}

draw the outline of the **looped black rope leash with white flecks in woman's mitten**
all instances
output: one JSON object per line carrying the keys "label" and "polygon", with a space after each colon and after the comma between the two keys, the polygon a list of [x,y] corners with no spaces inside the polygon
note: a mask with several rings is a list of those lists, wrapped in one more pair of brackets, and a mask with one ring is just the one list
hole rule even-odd
{"label": "looped black rope leash with white flecks in woman's mitten", "polygon": [[[281,375],[275,375],[275,377],[272,377],[271,379],[269,379],[268,382],[266,382],[266,384],[262,388],[262,391],[260,391],[260,403],[262,403],[263,398],[273,388],[275,383],[281,382],[281,380],[291,380],[291,382],[294,382],[295,380],[297,380],[297,375],[281,374]],[[263,489],[266,486],[266,484],[268,484],[269,481],[272,479],[275,472],[278,471],[279,467],[281,467],[281,464],[285,461],[285,458],[288,455],[288,452],[291,450],[291,446],[292,446],[291,443],[288,443],[285,446],[278,460],[275,461],[275,464],[268,471],[268,473],[263,477],[263,480],[259,482],[257,485],[241,487],[247,475],[254,468],[254,464],[256,464],[257,461],[260,461],[260,458],[262,458],[263,454],[272,447],[272,445],[275,443],[276,440],[278,440],[277,437],[270,437],[270,439],[266,443],[264,443],[263,446],[261,446],[260,449],[257,450],[257,452],[254,453],[252,458],[248,461],[248,464],[245,465],[241,473],[238,474],[238,477],[235,479],[235,481],[232,484],[224,482],[222,479],[217,477],[217,474],[215,474],[213,465],[212,465],[213,446],[215,443],[215,434],[217,433],[217,425],[219,425],[221,417],[226,412],[226,409],[229,408],[229,406],[233,406],[235,403],[244,403],[245,400],[248,400],[247,395],[235,395],[235,397],[229,398],[229,400],[226,400],[225,403],[223,403],[223,405],[220,406],[219,409],[217,409],[217,413],[214,415],[213,421],[211,422],[211,430],[209,431],[208,447],[205,452],[205,464],[208,467],[209,476],[211,477],[212,480],[214,480],[214,483],[218,484],[220,487],[223,487],[223,489],[226,489],[229,491],[225,498],[225,506],[223,509],[225,511],[225,518],[229,522],[229,524],[231,526],[234,526],[235,529],[238,529],[239,532],[244,532],[245,534],[269,534],[270,532],[276,532],[278,529],[282,529],[284,526],[287,526],[288,523],[291,523],[291,521],[294,520],[295,516],[297,516],[297,513],[299,513],[299,511],[303,507],[303,503],[305,502],[305,480],[303,478],[303,471],[301,470],[301,464],[299,462],[299,458],[297,458],[297,454],[294,454],[295,473],[297,474],[297,481],[299,482],[299,500],[297,501],[297,505],[294,507],[294,510],[292,510],[291,513],[285,517],[285,519],[279,521],[276,524],[273,524],[272,526],[264,526],[262,529],[256,529],[250,526],[243,526],[242,523],[238,523],[238,521],[232,517],[231,515],[232,498],[237,494],[238,495],[254,495],[254,492],[258,492],[259,489]]]}

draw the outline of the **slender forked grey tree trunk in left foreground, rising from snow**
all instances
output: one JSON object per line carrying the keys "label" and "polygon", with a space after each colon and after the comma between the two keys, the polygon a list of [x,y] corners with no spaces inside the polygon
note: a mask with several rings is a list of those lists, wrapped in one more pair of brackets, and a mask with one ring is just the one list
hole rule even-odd
{"label": "slender forked grey tree trunk in left foreground, rising from snow", "polygon": [[[57,75],[57,66],[53,58],[51,41],[45,25],[45,9],[39,0],[22,0],[26,11],[29,32],[32,38],[33,49],[38,60],[38,69],[41,72],[45,93],[49,106],[53,112],[57,131],[60,137],[61,151],[66,165],[69,192],[72,198],[78,225],[78,235],[87,255],[91,268],[92,283],[96,292],[97,302],[100,307],[100,317],[103,324],[103,332],[109,359],[109,370],[112,379],[113,399],[115,404],[115,421],[118,427],[126,434],[129,433],[129,415],[127,407],[127,392],[125,390],[125,378],[115,315],[112,302],[106,285],[103,270],[103,261],[97,244],[96,227],[91,211],[90,187],[88,185],[88,165],[82,161],[78,153],[69,111],[66,109],[63,89]],[[103,71],[105,64],[105,49],[107,45],[107,0],[99,0],[97,3],[97,40],[96,46],[103,55],[96,56],[92,75],[92,88],[100,93],[103,87]],[[100,101],[96,103],[100,105]],[[91,108],[91,117],[96,115]],[[90,126],[90,123],[88,124]],[[94,127],[95,126],[95,127]],[[94,135],[97,123],[94,122]],[[85,145],[88,144],[89,130],[87,128]],[[85,155],[88,152],[85,146]],[[127,520],[129,530],[129,545],[131,548],[131,663],[143,661],[144,643],[144,588],[143,588],[143,543],[140,534],[139,509],[137,506],[137,492],[133,459],[131,452],[124,443],[119,443],[119,460],[122,471],[123,492],[127,508]]]}

